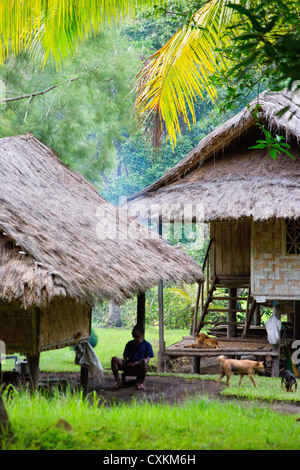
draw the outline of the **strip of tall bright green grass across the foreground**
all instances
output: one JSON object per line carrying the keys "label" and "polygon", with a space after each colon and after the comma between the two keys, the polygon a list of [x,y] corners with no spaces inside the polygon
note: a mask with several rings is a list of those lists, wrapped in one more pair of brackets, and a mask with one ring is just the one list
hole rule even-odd
{"label": "strip of tall bright green grass across the foreground", "polygon": [[[192,400],[181,406],[133,404],[105,408],[80,394],[6,400],[13,434],[4,450],[296,450],[300,423],[256,405]],[[63,418],[71,430],[57,427]]]}

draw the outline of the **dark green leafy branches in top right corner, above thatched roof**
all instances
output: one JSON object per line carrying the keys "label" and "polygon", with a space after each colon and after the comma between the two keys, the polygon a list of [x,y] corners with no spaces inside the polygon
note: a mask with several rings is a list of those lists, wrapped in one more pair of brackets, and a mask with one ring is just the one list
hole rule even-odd
{"label": "dark green leafy branches in top right corner, above thatched roof", "polygon": [[229,8],[239,13],[239,19],[227,28],[232,46],[223,49],[232,64],[219,74],[219,83],[226,85],[224,106],[246,104],[253,90],[299,89],[299,2],[229,2]]}

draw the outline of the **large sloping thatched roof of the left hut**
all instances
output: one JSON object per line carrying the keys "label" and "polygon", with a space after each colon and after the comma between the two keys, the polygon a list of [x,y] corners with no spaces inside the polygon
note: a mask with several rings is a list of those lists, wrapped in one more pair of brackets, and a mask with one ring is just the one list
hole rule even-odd
{"label": "large sloping thatched roof of the left hut", "polygon": [[32,135],[0,139],[0,200],[2,300],[122,303],[159,279],[203,279],[182,250],[150,239],[127,214],[117,217],[117,208]]}

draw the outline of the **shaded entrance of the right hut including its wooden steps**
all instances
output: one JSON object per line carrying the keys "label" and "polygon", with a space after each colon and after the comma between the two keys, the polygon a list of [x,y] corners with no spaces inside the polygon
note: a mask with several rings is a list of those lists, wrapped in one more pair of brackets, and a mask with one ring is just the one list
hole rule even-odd
{"label": "shaded entrance of the right hut including its wooden steps", "polygon": [[[225,334],[228,338],[238,336],[243,329],[238,316],[250,309],[251,267],[251,221],[217,221],[210,224],[210,243],[206,253],[203,272],[206,283],[199,286],[200,319],[195,311],[194,333],[205,325],[213,328],[212,334]],[[247,308],[241,301],[247,301]],[[216,301],[216,302],[215,302]],[[223,305],[220,306],[222,301]],[[215,305],[215,303],[217,305]],[[226,318],[217,320],[216,314]],[[207,315],[210,314],[207,317]],[[212,317],[212,318],[211,318]],[[214,331],[217,328],[217,331]],[[241,335],[242,331],[240,331]]]}

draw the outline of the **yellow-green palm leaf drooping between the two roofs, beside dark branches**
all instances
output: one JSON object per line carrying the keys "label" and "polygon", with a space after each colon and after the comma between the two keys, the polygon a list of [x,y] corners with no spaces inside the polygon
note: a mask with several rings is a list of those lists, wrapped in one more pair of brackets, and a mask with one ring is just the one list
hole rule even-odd
{"label": "yellow-green palm leaf drooping between the two roofs, beside dark branches", "polygon": [[198,97],[203,98],[204,89],[215,100],[216,90],[209,78],[229,65],[217,50],[229,43],[225,29],[237,17],[227,3],[207,2],[189,24],[144,63],[137,77],[136,117],[146,128],[159,120],[160,132],[165,128],[172,145],[176,145],[176,134],[180,133],[180,120],[189,128],[195,122],[195,102]]}

